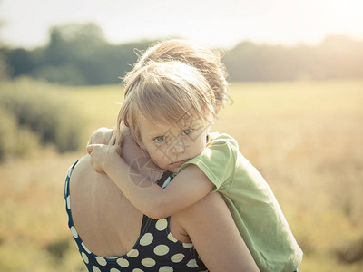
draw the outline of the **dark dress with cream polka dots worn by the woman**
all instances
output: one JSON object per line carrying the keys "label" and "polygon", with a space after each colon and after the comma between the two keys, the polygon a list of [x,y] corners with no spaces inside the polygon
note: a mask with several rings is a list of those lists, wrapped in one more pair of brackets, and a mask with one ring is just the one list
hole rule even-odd
{"label": "dark dress with cream polka dots worn by the woman", "polygon": [[69,180],[74,165],[67,173],[64,199],[68,216],[68,227],[83,258],[83,262],[89,271],[201,271],[199,266],[200,260],[197,257],[193,244],[182,243],[172,236],[169,228],[170,217],[166,219],[149,219],[144,217],[146,220],[140,237],[132,249],[123,256],[99,257],[93,254],[84,245],[74,228],[74,221],[72,219]]}

